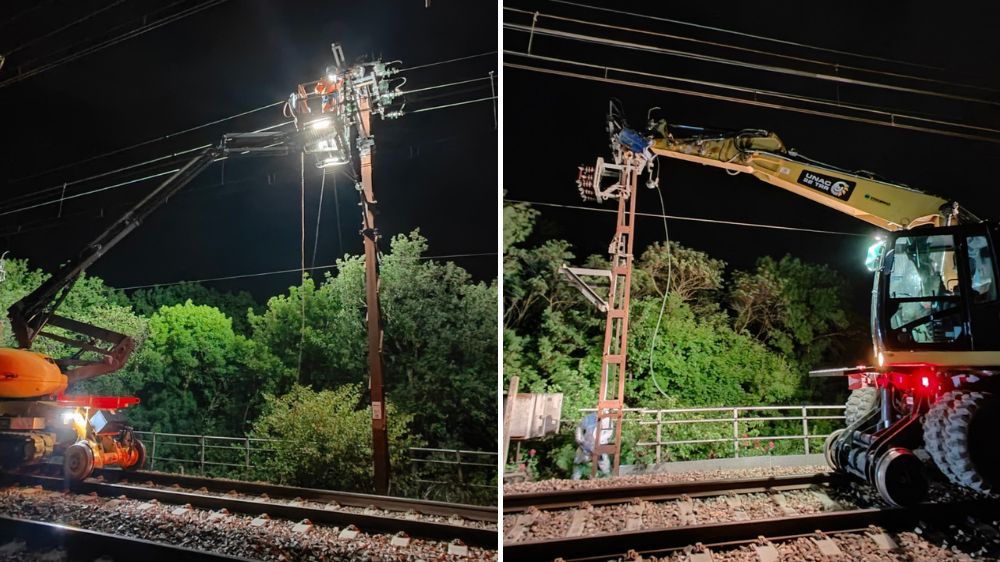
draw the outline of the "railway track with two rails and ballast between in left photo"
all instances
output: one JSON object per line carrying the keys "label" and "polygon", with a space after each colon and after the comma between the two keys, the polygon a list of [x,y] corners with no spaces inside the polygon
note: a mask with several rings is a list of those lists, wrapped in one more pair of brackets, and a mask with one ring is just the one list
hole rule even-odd
{"label": "railway track with two rails and ballast between in left photo", "polygon": [[153,472],[107,470],[72,485],[61,477],[37,473],[8,478],[19,485],[41,486],[56,492],[125,497],[291,522],[308,520],[311,524],[353,526],[366,533],[457,540],[457,544],[492,550],[498,546],[496,511],[492,511],[490,521],[490,508],[479,506]]}

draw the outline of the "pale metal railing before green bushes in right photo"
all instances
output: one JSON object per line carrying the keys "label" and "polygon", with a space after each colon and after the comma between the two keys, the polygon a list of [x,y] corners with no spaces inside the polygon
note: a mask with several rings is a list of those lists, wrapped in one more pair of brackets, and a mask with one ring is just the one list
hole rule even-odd
{"label": "pale metal railing before green bushes in right photo", "polygon": [[[639,428],[634,446],[637,449],[655,448],[656,463],[664,461],[665,452],[685,446],[689,446],[689,449],[692,448],[690,446],[707,446],[703,449],[709,451],[707,456],[712,458],[723,456],[724,452],[731,453],[724,456],[739,458],[741,452],[743,456],[754,456],[758,452],[769,454],[775,449],[776,442],[801,442],[801,450],[809,454],[814,450],[813,443],[829,435],[826,429],[834,421],[844,419],[845,408],[844,405],[724,406],[665,410],[626,408],[622,427]],[[587,414],[595,410],[590,408],[580,411]],[[823,425],[827,428],[822,427]],[[764,443],[768,444],[766,448],[761,446]],[[719,444],[724,447],[715,447]],[[784,449],[782,454],[787,454],[790,450],[788,447]]]}

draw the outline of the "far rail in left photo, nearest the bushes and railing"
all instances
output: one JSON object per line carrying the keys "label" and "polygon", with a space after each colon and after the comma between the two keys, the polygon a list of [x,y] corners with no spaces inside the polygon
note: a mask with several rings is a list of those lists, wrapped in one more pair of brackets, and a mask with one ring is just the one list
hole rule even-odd
{"label": "far rail in left photo, nearest the bushes and railing", "polygon": [[223,478],[208,478],[204,476],[190,476],[184,474],[170,474],[167,472],[152,471],[124,471],[118,469],[103,469],[94,471],[94,476],[103,478],[105,482],[130,483],[141,486],[145,482],[152,482],[159,486],[178,485],[183,488],[197,490],[205,488],[210,492],[227,493],[236,491],[241,494],[259,496],[267,494],[268,497],[287,500],[310,500],[316,502],[331,503],[354,507],[375,506],[385,511],[410,511],[425,515],[440,515],[451,517],[456,515],[471,521],[485,521],[488,523],[497,522],[497,508],[483,507],[478,505],[467,505],[460,503],[447,503],[429,500],[418,500],[410,498],[395,498],[391,496],[379,496],[375,494],[358,494],[354,492],[339,492],[335,490],[321,490],[317,488],[296,488],[292,486],[281,486],[266,482],[246,482],[242,480],[228,480]]}

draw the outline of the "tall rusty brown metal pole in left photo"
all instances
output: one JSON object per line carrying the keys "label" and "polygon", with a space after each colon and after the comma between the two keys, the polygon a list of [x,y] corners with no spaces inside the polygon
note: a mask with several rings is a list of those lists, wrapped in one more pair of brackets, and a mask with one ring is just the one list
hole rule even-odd
{"label": "tall rusty brown metal pole in left photo", "polygon": [[365,243],[365,303],[368,325],[368,373],[372,397],[372,454],[375,493],[389,492],[389,431],[386,424],[385,388],[382,386],[382,311],[378,302],[378,230],[375,228],[375,195],[372,191],[371,105],[358,98],[358,154],[361,158],[362,230]]}

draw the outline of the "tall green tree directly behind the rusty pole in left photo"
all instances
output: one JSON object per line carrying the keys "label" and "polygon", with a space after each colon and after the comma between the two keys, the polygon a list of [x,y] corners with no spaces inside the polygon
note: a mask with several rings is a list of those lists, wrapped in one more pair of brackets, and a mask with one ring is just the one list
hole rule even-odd
{"label": "tall green tree directly behind the rusty pole in left photo", "polygon": [[[386,391],[436,446],[496,443],[496,287],[423,258],[426,240],[397,236],[381,259]],[[338,261],[250,315],[258,350],[303,385],[367,380],[364,261]],[[305,322],[303,325],[303,310]],[[301,363],[300,363],[301,352]],[[300,367],[301,364],[301,367]]]}

